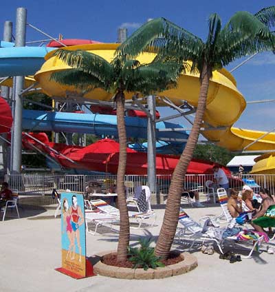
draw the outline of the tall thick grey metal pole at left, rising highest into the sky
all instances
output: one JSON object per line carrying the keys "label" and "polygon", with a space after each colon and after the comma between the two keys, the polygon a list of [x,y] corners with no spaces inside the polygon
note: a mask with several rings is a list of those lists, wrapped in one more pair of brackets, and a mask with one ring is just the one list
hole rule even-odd
{"label": "tall thick grey metal pole at left, rising highest into the sky", "polygon": [[[25,46],[25,34],[27,23],[27,10],[25,8],[17,8],[17,20],[15,30],[15,46]],[[24,76],[16,76],[14,78],[14,130],[12,131],[12,173],[21,173],[22,158],[22,109],[23,101],[20,97],[23,90]]]}

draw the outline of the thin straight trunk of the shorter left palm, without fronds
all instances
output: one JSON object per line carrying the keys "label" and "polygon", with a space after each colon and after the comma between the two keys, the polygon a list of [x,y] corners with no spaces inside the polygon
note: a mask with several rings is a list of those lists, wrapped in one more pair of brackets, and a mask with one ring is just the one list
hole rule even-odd
{"label": "thin straight trunk of the shorter left palm, without fronds", "polygon": [[118,161],[117,192],[118,206],[120,208],[120,235],[118,238],[118,261],[124,261],[127,258],[127,252],[130,240],[129,216],[126,205],[126,196],[124,189],[124,176],[126,169],[126,128],[124,123],[124,93],[119,90],[115,96],[116,113],[118,120],[118,138],[120,141],[120,158]]}

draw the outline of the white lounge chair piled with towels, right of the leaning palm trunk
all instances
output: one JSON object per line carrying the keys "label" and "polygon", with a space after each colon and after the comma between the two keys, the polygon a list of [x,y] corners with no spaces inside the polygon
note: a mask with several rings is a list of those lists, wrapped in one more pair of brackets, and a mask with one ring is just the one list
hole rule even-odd
{"label": "white lounge chair piled with towels, right of the leaning palm trunk", "polygon": [[[211,222],[210,218],[209,221]],[[237,236],[228,236],[223,238],[223,232],[226,228],[219,227],[208,227],[207,223],[202,226],[199,222],[196,222],[188,214],[181,209],[179,212],[179,227],[177,229],[176,236],[179,240],[183,240],[184,238],[192,240],[190,248],[193,247],[196,241],[201,242],[201,245],[206,242],[215,242],[219,251],[223,254],[223,246],[225,245],[225,241],[230,240],[234,244],[237,243],[247,243],[250,239],[252,239],[252,247],[249,247],[248,255],[241,255],[241,258],[251,258],[254,249],[259,249],[259,245],[263,242],[264,236],[258,236],[257,238],[248,238],[248,236],[243,235],[242,233]],[[244,232],[244,231],[243,231]],[[243,240],[245,238],[245,240]],[[250,240],[251,242],[251,240]],[[246,245],[245,247],[248,247]]]}

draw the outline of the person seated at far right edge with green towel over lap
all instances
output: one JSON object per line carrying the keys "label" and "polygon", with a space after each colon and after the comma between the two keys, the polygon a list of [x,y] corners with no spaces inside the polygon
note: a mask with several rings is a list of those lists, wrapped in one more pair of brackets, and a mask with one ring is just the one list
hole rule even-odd
{"label": "person seated at far right edge with green towel over lap", "polygon": [[252,226],[256,231],[264,232],[263,228],[275,227],[275,202],[267,189],[260,189],[260,196],[263,199],[261,209],[254,215]]}

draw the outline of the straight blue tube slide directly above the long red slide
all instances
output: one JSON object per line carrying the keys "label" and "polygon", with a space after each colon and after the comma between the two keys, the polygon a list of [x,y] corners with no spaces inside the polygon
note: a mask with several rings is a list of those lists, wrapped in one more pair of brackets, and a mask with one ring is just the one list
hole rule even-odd
{"label": "straight blue tube slide directly above the long red slide", "polygon": [[[71,112],[43,112],[23,110],[23,129],[67,133],[86,133],[118,137],[116,116],[107,114],[76,114]],[[131,138],[147,137],[145,118],[125,117],[126,133]],[[182,131],[160,132],[159,129],[182,128]],[[156,138],[188,138],[182,125],[160,122],[156,124]]]}

